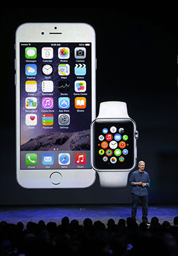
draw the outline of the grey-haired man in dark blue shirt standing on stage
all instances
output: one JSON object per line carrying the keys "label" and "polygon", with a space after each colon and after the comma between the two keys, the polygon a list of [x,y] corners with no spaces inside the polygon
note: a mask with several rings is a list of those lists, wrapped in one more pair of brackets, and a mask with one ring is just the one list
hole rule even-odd
{"label": "grey-haired man in dark blue shirt standing on stage", "polygon": [[148,188],[150,187],[150,176],[145,172],[145,162],[139,161],[138,170],[132,172],[129,182],[132,186],[132,219],[136,222],[136,210],[139,199],[142,204],[142,221],[150,225],[148,222]]}

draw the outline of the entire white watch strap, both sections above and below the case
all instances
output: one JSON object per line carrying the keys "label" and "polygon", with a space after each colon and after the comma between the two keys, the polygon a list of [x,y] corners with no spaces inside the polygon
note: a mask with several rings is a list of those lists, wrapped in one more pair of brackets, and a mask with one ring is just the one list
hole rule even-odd
{"label": "entire white watch strap, both sections above and below the case", "polygon": [[[101,102],[97,118],[129,118],[125,102]],[[128,184],[129,172],[98,172],[100,185],[104,188],[122,188]]]}

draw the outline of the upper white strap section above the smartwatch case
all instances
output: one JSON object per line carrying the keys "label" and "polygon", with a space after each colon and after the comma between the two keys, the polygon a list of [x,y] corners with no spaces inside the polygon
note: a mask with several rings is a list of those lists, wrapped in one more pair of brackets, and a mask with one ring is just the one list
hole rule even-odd
{"label": "upper white strap section above the smartwatch case", "polygon": [[125,102],[101,102],[97,118],[129,118]]}

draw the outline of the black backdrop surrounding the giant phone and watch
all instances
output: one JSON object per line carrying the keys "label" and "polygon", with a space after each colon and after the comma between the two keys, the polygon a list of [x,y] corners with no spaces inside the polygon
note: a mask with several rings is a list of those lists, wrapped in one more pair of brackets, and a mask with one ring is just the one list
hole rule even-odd
{"label": "black backdrop surrounding the giant phone and watch", "polygon": [[[138,160],[150,174],[150,203],[178,201],[176,8],[116,8],[76,2],[1,9],[0,204],[131,203],[131,187],[25,189],[15,178],[15,30],[26,22],[84,22],[96,30],[97,114],[102,101],[120,100],[139,131]],[[167,3],[166,3],[167,4]],[[131,175],[131,173],[130,173]],[[129,176],[130,176],[129,175]]]}

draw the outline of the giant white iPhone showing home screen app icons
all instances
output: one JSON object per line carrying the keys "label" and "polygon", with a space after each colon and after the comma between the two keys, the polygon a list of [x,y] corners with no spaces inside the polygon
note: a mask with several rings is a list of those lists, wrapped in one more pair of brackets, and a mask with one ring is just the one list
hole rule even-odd
{"label": "giant white iPhone showing home screen app icons", "polygon": [[17,181],[25,188],[93,184],[96,42],[85,23],[26,23],[15,40]]}

